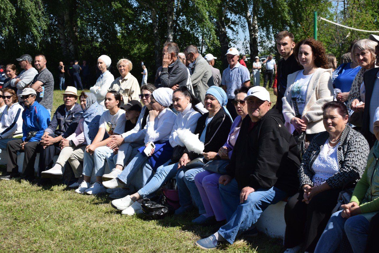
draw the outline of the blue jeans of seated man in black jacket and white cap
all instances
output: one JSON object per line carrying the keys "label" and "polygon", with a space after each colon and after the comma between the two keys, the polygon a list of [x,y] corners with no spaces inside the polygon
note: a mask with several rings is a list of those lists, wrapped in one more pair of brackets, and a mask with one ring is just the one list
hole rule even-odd
{"label": "blue jeans of seated man in black jacket and white cap", "polygon": [[233,244],[238,234],[255,224],[269,205],[276,204],[287,197],[287,193],[271,187],[250,193],[247,200],[240,204],[241,191],[238,189],[235,179],[232,179],[227,185],[220,184],[219,189],[228,223],[222,226],[218,233],[230,244]]}

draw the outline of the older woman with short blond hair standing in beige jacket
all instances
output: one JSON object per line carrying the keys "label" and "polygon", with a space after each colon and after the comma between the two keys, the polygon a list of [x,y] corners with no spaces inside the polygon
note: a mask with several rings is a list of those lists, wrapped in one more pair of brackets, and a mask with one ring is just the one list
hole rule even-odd
{"label": "older woman with short blond hair standing in beige jacket", "polygon": [[117,91],[121,94],[122,105],[127,104],[131,100],[139,101],[138,94],[141,93],[139,90],[139,84],[137,79],[130,74],[133,68],[133,64],[128,59],[121,59],[117,62],[117,69],[120,72],[120,77],[117,77],[112,83],[110,90]]}

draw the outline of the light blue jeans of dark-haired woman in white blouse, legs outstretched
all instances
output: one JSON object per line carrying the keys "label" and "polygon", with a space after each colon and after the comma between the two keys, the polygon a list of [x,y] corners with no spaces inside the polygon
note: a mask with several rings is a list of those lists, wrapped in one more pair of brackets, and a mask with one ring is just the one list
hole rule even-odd
{"label": "light blue jeans of dark-haired woman in white blouse, legs outstretched", "polygon": [[169,165],[169,163],[171,163],[171,160],[158,167],[157,172],[155,172],[152,179],[144,187],[138,190],[138,194],[141,198],[146,198],[152,195],[176,175],[178,163],[171,165]]}

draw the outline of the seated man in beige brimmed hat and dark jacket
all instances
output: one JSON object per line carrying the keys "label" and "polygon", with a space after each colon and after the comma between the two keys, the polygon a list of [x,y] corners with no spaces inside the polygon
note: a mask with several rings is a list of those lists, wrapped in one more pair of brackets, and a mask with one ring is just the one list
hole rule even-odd
{"label": "seated man in beige brimmed hat and dark jacket", "polygon": [[59,154],[60,142],[73,134],[78,126],[83,109],[77,103],[77,89],[67,86],[63,94],[63,105],[60,105],[41,138],[41,153],[39,159],[39,176],[53,165],[53,157]]}

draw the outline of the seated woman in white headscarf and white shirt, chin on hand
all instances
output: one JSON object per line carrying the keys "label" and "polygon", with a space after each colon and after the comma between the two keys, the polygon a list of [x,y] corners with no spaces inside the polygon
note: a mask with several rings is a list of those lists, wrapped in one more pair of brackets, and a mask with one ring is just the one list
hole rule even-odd
{"label": "seated woman in white headscarf and white shirt, chin on hand", "polygon": [[[145,146],[138,149],[139,153],[117,178],[103,182],[106,188],[130,187],[133,184],[134,187],[141,189],[150,181],[157,168],[171,159],[173,148],[169,143],[169,137],[176,119],[176,114],[169,108],[172,104],[172,93],[170,88],[158,88],[153,91],[150,96],[151,110],[147,124],[141,130],[146,132]],[[144,149],[151,147],[151,143],[155,148],[152,148],[147,156]],[[111,205],[118,210],[124,210],[125,208],[121,209],[117,204],[124,202],[123,200],[124,198],[114,200]]]}

